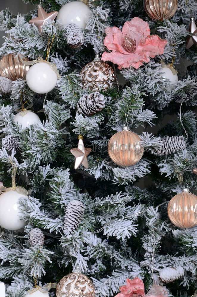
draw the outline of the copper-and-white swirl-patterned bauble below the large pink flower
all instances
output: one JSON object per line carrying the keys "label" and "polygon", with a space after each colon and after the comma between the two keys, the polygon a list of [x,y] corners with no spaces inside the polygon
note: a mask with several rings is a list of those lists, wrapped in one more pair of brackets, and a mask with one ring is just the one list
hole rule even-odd
{"label": "copper-and-white swirl-patterned bauble below the large pink flower", "polygon": [[83,67],[81,73],[82,88],[90,91],[107,91],[115,83],[115,73],[112,67],[101,61],[97,54],[94,61]]}

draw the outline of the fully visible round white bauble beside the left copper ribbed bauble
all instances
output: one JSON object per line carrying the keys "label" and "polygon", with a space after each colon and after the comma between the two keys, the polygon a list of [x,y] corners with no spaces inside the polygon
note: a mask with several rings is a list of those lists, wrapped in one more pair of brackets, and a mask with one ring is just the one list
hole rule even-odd
{"label": "fully visible round white bauble beside the left copper ribbed bauble", "polygon": [[50,92],[57,83],[57,74],[49,64],[39,62],[32,65],[26,74],[29,88],[35,93],[45,94]]}

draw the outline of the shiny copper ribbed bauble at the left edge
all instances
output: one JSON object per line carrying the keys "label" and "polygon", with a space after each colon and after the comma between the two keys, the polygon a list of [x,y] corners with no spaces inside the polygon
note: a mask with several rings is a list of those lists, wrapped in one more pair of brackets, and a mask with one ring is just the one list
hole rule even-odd
{"label": "shiny copper ribbed bauble at the left edge", "polygon": [[26,79],[29,65],[23,64],[22,61],[29,61],[29,59],[21,54],[18,56],[13,54],[3,56],[0,61],[0,75],[12,81],[17,80],[17,78]]}

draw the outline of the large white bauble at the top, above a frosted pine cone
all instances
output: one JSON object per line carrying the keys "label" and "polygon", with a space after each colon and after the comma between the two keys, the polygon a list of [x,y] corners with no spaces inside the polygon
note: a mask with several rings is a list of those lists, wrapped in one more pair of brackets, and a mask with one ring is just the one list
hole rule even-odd
{"label": "large white bauble at the top, above a frosted pine cone", "polygon": [[74,23],[84,30],[91,12],[90,7],[83,2],[72,1],[62,6],[58,12],[57,20],[60,20],[62,25]]}

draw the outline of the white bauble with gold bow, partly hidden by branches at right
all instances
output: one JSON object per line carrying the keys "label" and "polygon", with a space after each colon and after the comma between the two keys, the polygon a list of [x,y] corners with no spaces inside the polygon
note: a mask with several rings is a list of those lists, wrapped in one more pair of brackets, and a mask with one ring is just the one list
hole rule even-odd
{"label": "white bauble with gold bow, partly hidden by branches at right", "polygon": [[161,60],[159,71],[161,74],[158,74],[158,76],[167,78],[169,80],[168,88],[172,91],[178,82],[178,72],[171,64],[165,64],[164,60]]}

